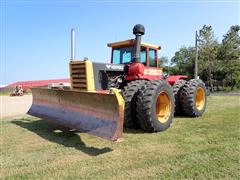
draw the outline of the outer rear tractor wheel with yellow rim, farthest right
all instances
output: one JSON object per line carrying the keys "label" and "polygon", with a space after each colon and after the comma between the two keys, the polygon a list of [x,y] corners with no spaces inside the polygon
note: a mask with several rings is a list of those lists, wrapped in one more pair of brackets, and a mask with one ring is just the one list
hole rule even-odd
{"label": "outer rear tractor wheel with yellow rim, farthest right", "polygon": [[207,91],[200,79],[191,79],[180,92],[180,103],[183,112],[189,117],[201,116],[206,109]]}

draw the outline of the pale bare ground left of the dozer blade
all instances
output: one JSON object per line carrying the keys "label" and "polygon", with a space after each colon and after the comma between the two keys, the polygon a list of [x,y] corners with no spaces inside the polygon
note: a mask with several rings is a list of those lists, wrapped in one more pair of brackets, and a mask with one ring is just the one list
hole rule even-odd
{"label": "pale bare ground left of the dozer blade", "polygon": [[32,95],[25,96],[0,96],[1,118],[23,115],[32,104]]}

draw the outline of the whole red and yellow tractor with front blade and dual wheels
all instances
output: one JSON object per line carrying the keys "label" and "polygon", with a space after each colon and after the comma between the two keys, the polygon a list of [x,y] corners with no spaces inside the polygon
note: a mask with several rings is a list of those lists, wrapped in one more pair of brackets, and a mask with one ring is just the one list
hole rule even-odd
{"label": "whole red and yellow tractor with front blade and dual wheels", "polygon": [[28,114],[108,140],[121,138],[123,125],[160,132],[170,127],[174,114],[201,116],[204,83],[184,75],[165,78],[161,47],[141,42],[144,33],[143,25],[135,25],[135,39],[108,44],[111,63],[95,63],[76,60],[72,31],[71,88],[32,88]]}

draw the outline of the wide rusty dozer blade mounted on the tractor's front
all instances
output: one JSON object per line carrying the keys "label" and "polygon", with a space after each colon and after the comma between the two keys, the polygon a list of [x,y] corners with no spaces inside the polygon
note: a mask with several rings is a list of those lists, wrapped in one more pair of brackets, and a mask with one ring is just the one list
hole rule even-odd
{"label": "wide rusty dozer blade mounted on the tractor's front", "polygon": [[33,103],[27,114],[107,140],[122,137],[124,100],[111,93],[31,88]]}

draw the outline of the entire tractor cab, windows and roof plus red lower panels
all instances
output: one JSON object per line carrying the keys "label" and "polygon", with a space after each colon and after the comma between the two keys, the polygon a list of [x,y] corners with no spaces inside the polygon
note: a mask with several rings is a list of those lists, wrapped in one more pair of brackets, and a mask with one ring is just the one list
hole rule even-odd
{"label": "entire tractor cab, windows and roof plus red lower panels", "polygon": [[124,64],[127,66],[126,80],[135,79],[162,79],[163,72],[158,61],[160,46],[141,42],[136,61],[136,39],[129,39],[115,43],[109,43],[112,48],[111,64]]}

